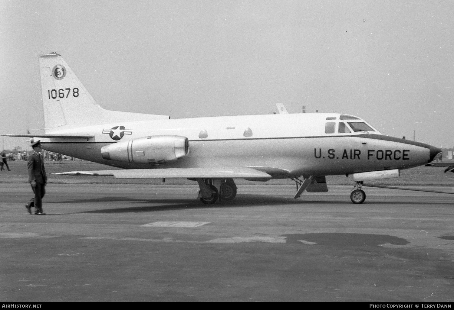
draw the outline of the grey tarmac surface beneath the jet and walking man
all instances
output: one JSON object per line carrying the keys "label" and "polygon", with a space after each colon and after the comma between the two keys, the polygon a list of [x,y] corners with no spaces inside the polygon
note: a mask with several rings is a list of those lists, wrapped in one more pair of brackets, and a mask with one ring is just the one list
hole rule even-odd
{"label": "grey tarmac surface beneath the jet and walking man", "polygon": [[36,216],[0,186],[0,301],[454,301],[454,195],[49,184]]}

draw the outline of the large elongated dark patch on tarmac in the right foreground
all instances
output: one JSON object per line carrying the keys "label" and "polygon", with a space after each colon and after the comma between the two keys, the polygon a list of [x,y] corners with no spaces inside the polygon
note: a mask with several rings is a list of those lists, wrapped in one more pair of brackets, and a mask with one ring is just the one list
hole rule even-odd
{"label": "large elongated dark patch on tarmac in the right foreground", "polygon": [[334,247],[378,247],[380,244],[407,245],[404,238],[369,233],[296,233],[282,235],[286,243],[304,243]]}

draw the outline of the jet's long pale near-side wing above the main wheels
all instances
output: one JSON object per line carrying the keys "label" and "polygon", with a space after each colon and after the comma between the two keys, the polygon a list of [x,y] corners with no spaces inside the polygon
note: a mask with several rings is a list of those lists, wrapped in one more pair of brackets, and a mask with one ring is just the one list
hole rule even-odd
{"label": "jet's long pale near-side wing above the main wheels", "polygon": [[69,171],[56,174],[64,175],[113,175],[117,179],[271,179],[271,175],[252,168],[168,168],[168,169],[120,169],[120,170],[91,170]]}

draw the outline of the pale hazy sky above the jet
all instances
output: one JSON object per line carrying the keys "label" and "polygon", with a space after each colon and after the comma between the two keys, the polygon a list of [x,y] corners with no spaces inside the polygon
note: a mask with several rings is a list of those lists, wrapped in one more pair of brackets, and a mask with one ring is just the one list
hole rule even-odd
{"label": "pale hazy sky above the jet", "polygon": [[0,133],[44,127],[38,56],[55,51],[109,110],[182,118],[282,102],[453,147],[453,16],[450,0],[0,0]]}

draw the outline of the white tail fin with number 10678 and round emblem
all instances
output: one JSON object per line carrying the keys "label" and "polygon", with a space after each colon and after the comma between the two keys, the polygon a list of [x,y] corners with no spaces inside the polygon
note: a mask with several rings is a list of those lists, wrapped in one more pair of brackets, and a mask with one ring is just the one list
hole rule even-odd
{"label": "white tail fin with number 10678 and round emblem", "polygon": [[165,115],[109,111],[100,107],[69,68],[63,57],[39,57],[46,129],[70,129],[117,121],[168,119]]}

